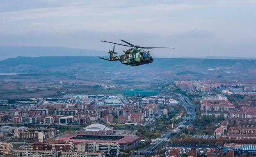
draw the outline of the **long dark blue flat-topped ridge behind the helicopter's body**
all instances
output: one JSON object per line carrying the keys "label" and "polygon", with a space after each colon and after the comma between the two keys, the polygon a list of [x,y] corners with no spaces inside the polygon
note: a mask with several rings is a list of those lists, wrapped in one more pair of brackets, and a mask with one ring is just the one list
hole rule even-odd
{"label": "long dark blue flat-topped ridge behind the helicopter's body", "polygon": [[[78,56],[54,56],[54,57],[15,57],[0,61],[0,65],[18,66],[27,64],[32,66],[39,66],[49,68],[53,66],[69,66],[73,64],[94,64],[95,68],[101,66],[117,66],[120,62],[108,62],[101,60],[98,57],[78,57]],[[123,65],[124,66],[124,65]],[[256,60],[231,60],[231,59],[194,59],[194,58],[155,58],[152,64],[139,66],[144,68],[156,69],[173,69],[179,66],[187,69],[193,68],[217,68],[217,67],[239,67],[244,69],[255,69]],[[122,66],[120,66],[122,67]]]}

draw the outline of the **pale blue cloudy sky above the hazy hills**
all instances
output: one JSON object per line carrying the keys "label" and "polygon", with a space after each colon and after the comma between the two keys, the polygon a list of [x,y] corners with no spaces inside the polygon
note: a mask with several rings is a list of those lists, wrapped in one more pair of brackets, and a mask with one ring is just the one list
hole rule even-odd
{"label": "pale blue cloudy sky above the hazy hills", "polygon": [[122,39],[176,48],[155,57],[256,57],[255,28],[256,0],[0,0],[0,46],[107,52],[101,40]]}

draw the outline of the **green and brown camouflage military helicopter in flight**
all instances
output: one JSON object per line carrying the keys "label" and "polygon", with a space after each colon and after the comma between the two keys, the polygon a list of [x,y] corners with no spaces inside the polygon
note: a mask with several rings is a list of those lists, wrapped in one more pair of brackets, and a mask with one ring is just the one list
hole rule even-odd
{"label": "green and brown camouflage military helicopter in flight", "polygon": [[[101,41],[107,42],[104,40],[101,40]],[[123,51],[125,53],[124,55],[114,56],[114,54],[117,54],[117,53],[114,52],[114,47],[113,47],[113,51],[108,51],[108,53],[110,53],[109,58],[107,59],[102,57],[99,57],[99,58],[103,60],[108,60],[108,61],[119,60],[122,64],[125,64],[125,65],[139,66],[143,64],[152,63],[154,60],[154,58],[150,55],[149,51],[145,51],[144,49],[174,49],[173,47],[142,47],[142,46],[130,44],[129,42],[126,42],[124,40],[121,40],[121,41],[125,42],[128,45],[118,44],[114,42],[108,42],[108,43],[118,44],[118,45],[132,47],[132,48],[126,51]]]}

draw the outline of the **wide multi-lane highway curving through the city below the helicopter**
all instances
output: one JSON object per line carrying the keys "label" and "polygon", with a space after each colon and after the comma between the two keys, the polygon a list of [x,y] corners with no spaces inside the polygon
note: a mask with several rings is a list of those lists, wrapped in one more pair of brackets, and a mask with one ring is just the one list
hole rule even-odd
{"label": "wide multi-lane highway curving through the city below the helicopter", "polygon": [[[164,91],[167,93],[173,93],[175,95],[178,95],[180,97],[180,100],[182,101],[184,108],[187,112],[187,114],[185,115],[185,117],[194,117],[196,116],[196,111],[194,106],[192,106],[190,104],[190,101],[187,97],[185,97],[184,95],[181,95],[179,93],[174,93],[171,91]],[[181,125],[190,125],[192,122],[192,119],[189,118],[183,118],[183,121],[180,123]],[[170,132],[165,133],[165,135],[163,136],[164,138],[169,138],[172,139],[175,137],[175,135],[172,135]],[[155,150],[158,150],[158,148],[165,148],[165,146],[168,144],[168,141],[157,141],[154,143],[149,144],[148,146],[142,148],[139,150],[140,154],[146,154],[148,152],[153,152]]]}

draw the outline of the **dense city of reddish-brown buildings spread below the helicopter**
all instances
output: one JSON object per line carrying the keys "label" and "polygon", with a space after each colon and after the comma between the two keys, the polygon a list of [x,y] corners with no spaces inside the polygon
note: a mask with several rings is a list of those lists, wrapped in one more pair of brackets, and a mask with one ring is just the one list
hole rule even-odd
{"label": "dense city of reddish-brown buildings spread below the helicopter", "polygon": [[123,94],[0,100],[0,108],[3,156],[256,155],[256,84],[175,81]]}

